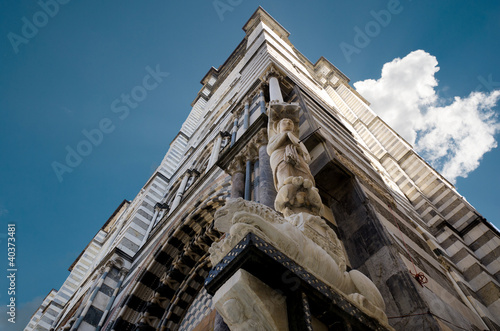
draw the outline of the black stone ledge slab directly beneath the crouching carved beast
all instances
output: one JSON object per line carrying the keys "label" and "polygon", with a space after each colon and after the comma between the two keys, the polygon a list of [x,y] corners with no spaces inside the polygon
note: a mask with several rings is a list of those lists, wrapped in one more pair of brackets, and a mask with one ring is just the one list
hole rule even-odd
{"label": "black stone ledge slab directly beneath the crouching carved beast", "polygon": [[287,298],[296,298],[299,293],[306,293],[311,313],[327,326],[341,323],[353,329],[388,330],[253,233],[247,234],[212,268],[205,280],[207,292],[214,295],[240,269],[246,270]]}

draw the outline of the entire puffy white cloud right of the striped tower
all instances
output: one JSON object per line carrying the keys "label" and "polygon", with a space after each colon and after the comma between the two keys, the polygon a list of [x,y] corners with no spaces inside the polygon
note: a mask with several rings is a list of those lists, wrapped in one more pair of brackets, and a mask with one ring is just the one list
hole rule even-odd
{"label": "entire puffy white cloud right of the striped tower", "polygon": [[437,59],[423,50],[384,64],[380,79],[354,83],[372,109],[451,182],[467,177],[497,147],[500,90],[451,102],[436,93]]}

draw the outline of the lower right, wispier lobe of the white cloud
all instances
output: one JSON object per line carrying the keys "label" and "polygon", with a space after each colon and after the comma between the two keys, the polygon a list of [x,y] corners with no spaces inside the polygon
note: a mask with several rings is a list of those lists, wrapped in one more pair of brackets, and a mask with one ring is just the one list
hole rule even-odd
{"label": "lower right, wispier lobe of the white cloud", "polygon": [[500,124],[493,107],[500,91],[455,97],[445,107],[431,107],[424,117],[417,150],[451,181],[467,177],[483,155],[497,147]]}

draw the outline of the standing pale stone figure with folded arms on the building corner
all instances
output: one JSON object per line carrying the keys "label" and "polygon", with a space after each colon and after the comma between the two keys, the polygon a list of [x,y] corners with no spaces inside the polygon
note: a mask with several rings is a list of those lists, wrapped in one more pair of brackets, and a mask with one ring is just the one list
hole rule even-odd
{"label": "standing pale stone figure with folded arms on the building corner", "polygon": [[309,170],[311,157],[299,140],[299,110],[297,104],[270,104],[267,153],[278,192],[274,207],[285,216],[301,212],[319,215],[322,207]]}

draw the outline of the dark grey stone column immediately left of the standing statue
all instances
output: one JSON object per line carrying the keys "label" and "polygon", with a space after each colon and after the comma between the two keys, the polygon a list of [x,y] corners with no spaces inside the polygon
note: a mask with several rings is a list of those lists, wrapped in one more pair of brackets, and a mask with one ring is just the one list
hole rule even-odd
{"label": "dark grey stone column immediately left of the standing statue", "polygon": [[267,154],[267,131],[259,132],[256,144],[259,149],[259,198],[258,201],[274,209],[276,189],[274,188],[273,171]]}

